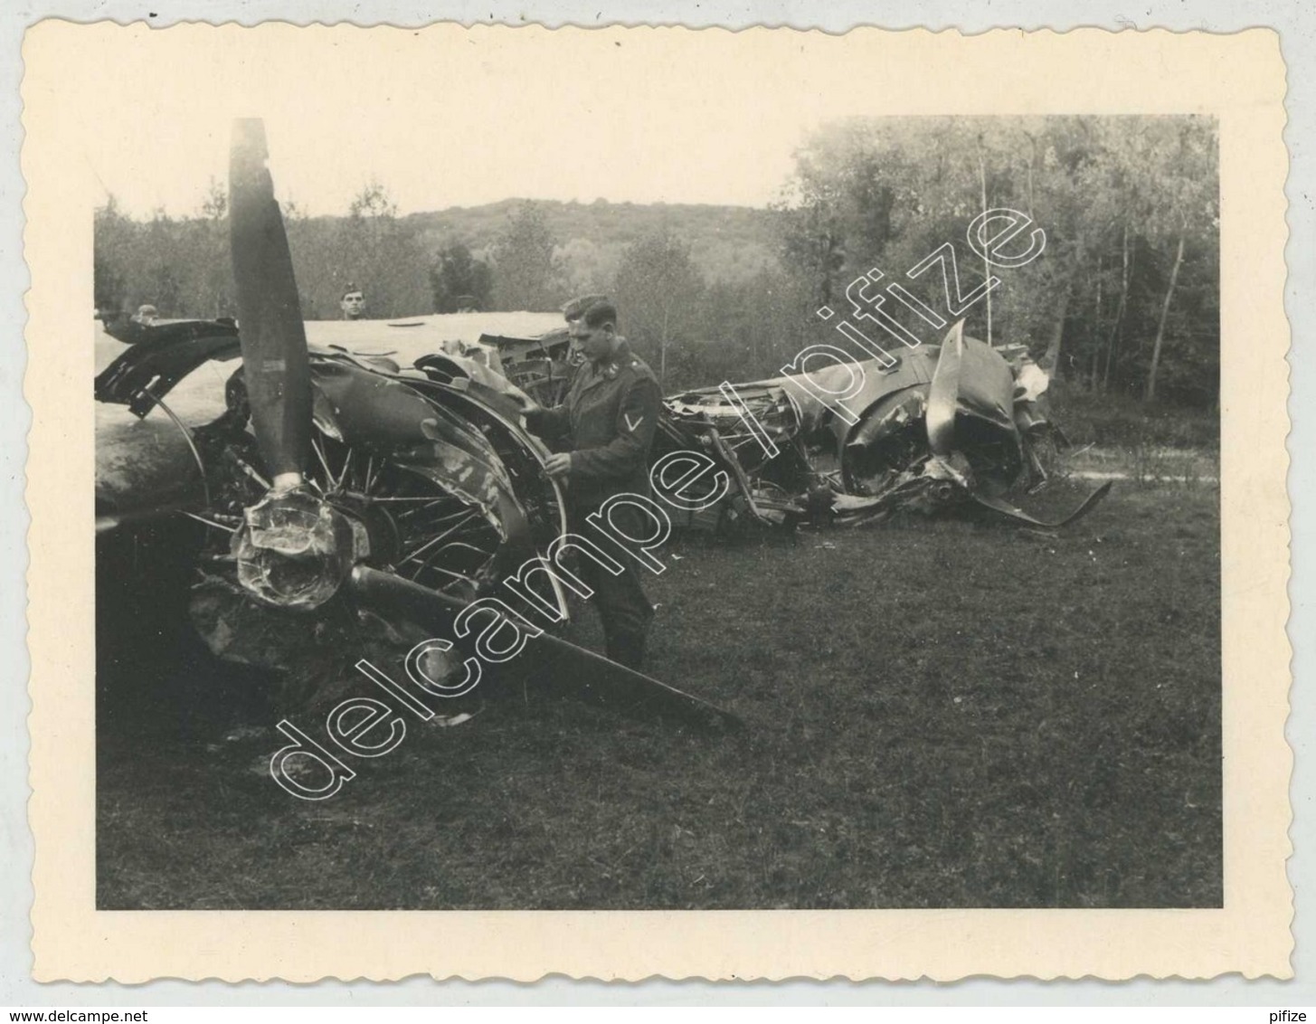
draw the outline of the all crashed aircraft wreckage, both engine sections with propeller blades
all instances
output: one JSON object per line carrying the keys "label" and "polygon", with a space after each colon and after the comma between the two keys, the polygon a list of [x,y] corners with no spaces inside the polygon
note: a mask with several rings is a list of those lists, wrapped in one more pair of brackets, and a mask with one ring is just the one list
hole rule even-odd
{"label": "all crashed aircraft wreckage, both engine sections with propeller blades", "polygon": [[[221,658],[292,669],[370,637],[411,646],[443,629],[467,642],[432,652],[425,673],[461,677],[497,625],[495,613],[471,637],[482,605],[521,621],[545,607],[567,619],[551,573],[537,607],[495,591],[567,536],[562,495],[544,473],[547,449],[521,424],[526,392],[551,401],[572,372],[566,333],[436,345],[412,366],[361,345],[309,345],[265,162],[261,122],[238,122],[230,224],[241,332],[222,320],[107,324],[129,346],[96,378],[97,544],[180,517],[204,526],[190,612]],[[418,326],[351,330],[388,347]],[[958,324],[940,349],[859,366],[858,388],[845,366],[812,375],[815,391],[846,395],[844,408],[791,378],[669,399],[653,461],[703,451],[730,482],[687,525],[861,523],[962,504],[1038,523],[1000,496],[1040,471],[1033,445],[1051,429],[1037,409],[1036,366],[1007,361]],[[538,655],[508,671],[547,671],[616,707],[736,723],[551,632],[525,636]]]}

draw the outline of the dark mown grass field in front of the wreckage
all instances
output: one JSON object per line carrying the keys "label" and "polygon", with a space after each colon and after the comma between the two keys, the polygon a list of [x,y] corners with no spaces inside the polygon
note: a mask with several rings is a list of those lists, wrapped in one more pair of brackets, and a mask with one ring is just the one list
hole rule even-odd
{"label": "dark mown grass field in front of the wreckage", "polygon": [[1220,906],[1219,550],[1204,484],[1116,484],[1054,536],[676,541],[649,671],[742,733],[491,687],[322,803],[261,774],[278,715],[215,666],[107,670],[97,903]]}

